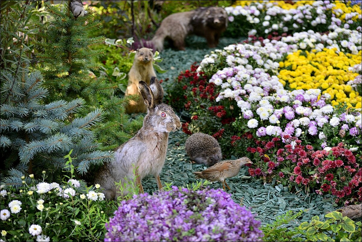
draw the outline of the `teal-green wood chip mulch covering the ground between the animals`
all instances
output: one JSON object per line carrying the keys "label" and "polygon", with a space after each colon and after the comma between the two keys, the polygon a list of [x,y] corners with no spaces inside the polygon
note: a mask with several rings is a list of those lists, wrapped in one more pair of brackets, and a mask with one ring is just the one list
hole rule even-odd
{"label": "teal-green wood chip mulch covering the ground between the animals", "polygon": [[[231,39],[221,38],[217,46],[222,49],[224,46],[241,42],[245,38]],[[167,46],[167,45],[166,45]],[[186,50],[177,51],[174,49],[165,49],[161,52],[164,59],[160,66],[168,70],[166,73],[159,74],[159,79],[169,78],[168,83],[163,83],[166,87],[172,85],[180,71],[190,68],[194,62],[200,62],[205,54],[210,53],[213,49],[207,48],[206,40],[201,37],[189,36],[186,38]],[[181,120],[182,121],[182,120]],[[194,171],[203,171],[205,165],[191,163],[190,158],[185,152],[185,141],[188,138],[182,131],[170,134],[166,162],[160,174],[163,183],[172,182],[172,185],[186,186],[189,183],[196,182]],[[298,221],[293,221],[293,225],[308,221],[311,217],[318,215],[321,220],[324,214],[333,211],[331,196],[319,196],[316,193],[305,194],[303,190],[296,190],[290,193],[288,188],[282,184],[264,184],[261,180],[256,180],[248,176],[247,168],[242,168],[239,175],[227,179],[227,184],[231,190],[233,200],[241,205],[245,205],[249,210],[256,214],[256,219],[261,221],[262,225],[275,221],[275,217],[285,214],[286,211],[292,210],[299,212],[305,210],[303,217]],[[153,176],[146,177],[142,181],[145,192],[152,194],[157,190],[157,184]],[[222,188],[220,182],[214,182],[210,185],[212,188]]]}

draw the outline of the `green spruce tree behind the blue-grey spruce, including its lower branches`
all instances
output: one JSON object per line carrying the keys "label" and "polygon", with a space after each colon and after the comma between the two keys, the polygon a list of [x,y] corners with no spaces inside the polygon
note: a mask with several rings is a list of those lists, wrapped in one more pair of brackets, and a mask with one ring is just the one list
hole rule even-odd
{"label": "green spruce tree behind the blue-grey spruce, including its lower branches", "polygon": [[114,95],[117,85],[109,84],[104,77],[89,75],[100,68],[93,59],[102,54],[102,50],[92,50],[89,46],[104,42],[103,37],[88,37],[101,28],[101,23],[94,21],[91,9],[87,9],[87,15],[75,19],[68,4],[63,10],[51,4],[46,7],[53,20],[38,26],[36,35],[42,41],[35,41],[35,45],[41,52],[37,58],[42,61],[39,70],[45,79],[44,86],[51,93],[48,101],[83,98],[89,110],[102,107],[106,122],[95,127],[96,138],[101,150],[113,150],[142,126],[142,117],[130,122],[125,113],[125,105],[138,97],[119,98]]}

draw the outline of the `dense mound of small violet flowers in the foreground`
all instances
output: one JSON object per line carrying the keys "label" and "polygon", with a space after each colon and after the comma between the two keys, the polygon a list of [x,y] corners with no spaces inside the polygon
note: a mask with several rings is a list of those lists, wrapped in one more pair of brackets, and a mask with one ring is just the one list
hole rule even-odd
{"label": "dense mound of small violet flowers in the foreground", "polygon": [[105,241],[261,241],[260,222],[221,189],[176,186],[123,200]]}

